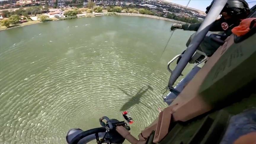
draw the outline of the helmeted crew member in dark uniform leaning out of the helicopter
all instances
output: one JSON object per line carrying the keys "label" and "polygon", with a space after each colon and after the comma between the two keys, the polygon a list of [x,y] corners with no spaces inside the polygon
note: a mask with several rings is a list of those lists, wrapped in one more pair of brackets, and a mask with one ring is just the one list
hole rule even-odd
{"label": "helmeted crew member in dark uniform leaning out of the helicopter", "polygon": [[[206,14],[209,12],[210,8],[212,7],[212,4],[215,0],[212,1],[212,3],[206,8]],[[228,0],[227,4],[223,8],[223,10],[220,12],[220,19],[216,20],[209,31],[217,31],[222,32],[221,35],[224,36],[224,39],[227,38],[232,34],[231,30],[232,28],[239,25],[242,19],[245,19],[250,13],[249,6],[245,0]],[[171,27],[171,30],[175,30],[177,28],[188,30],[188,31],[197,31],[200,27],[201,23],[195,23],[195,24],[174,24]],[[211,34],[210,32],[208,35]],[[220,34],[220,33],[219,33]],[[190,44],[191,40],[193,39],[195,33],[192,34],[186,44]],[[199,45],[198,49],[204,52],[208,57],[212,56],[213,53],[220,47],[220,44],[216,41],[213,41],[209,36],[206,36],[204,40]]]}

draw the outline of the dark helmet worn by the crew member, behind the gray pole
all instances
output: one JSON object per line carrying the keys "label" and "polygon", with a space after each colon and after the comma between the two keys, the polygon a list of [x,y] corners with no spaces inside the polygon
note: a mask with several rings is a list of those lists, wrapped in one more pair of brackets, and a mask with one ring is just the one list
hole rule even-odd
{"label": "dark helmet worn by the crew member, behind the gray pole", "polygon": [[[205,13],[209,12],[214,1],[206,8]],[[249,6],[245,0],[228,0],[222,11],[227,12],[229,15],[243,15],[247,10],[249,10]]]}

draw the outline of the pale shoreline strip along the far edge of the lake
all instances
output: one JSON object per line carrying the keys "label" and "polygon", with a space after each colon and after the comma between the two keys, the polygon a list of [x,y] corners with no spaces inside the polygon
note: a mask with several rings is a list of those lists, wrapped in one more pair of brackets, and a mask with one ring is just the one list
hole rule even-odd
{"label": "pale shoreline strip along the far edge of the lake", "polygon": [[[94,13],[94,14],[95,14],[95,16],[104,16],[106,13],[107,12],[100,12],[100,13]],[[143,14],[135,14],[135,13],[117,13],[117,12],[116,12],[116,15],[151,17],[151,18],[156,18],[156,19],[160,19],[160,20],[167,20],[167,21],[171,21],[171,22],[175,22],[175,23],[185,24],[185,22],[172,20],[172,19],[168,19],[168,18],[164,18],[164,17],[153,16],[153,15],[143,15]],[[113,15],[113,16],[115,16],[115,15]],[[57,20],[51,20],[51,21],[57,21]],[[50,22],[50,21],[48,21],[48,22]],[[11,29],[11,28],[18,28],[18,27],[22,27],[22,26],[26,26],[26,25],[38,24],[38,23],[44,23],[44,22],[38,21],[37,23],[18,25],[18,26],[14,26],[14,27],[10,27],[10,28],[1,29],[0,31],[8,30],[8,29]]]}

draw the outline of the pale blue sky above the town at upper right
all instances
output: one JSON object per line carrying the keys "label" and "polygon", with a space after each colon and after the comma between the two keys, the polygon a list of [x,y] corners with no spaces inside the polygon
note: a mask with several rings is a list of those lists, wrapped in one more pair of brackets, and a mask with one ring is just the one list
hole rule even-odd
{"label": "pale blue sky above the town at upper right", "polygon": [[[180,4],[186,6],[189,0],[167,0],[172,3]],[[246,0],[251,8],[256,4],[256,0]],[[212,0],[191,0],[188,4],[188,7],[192,7],[194,9],[199,9],[205,11],[206,7],[211,4]]]}

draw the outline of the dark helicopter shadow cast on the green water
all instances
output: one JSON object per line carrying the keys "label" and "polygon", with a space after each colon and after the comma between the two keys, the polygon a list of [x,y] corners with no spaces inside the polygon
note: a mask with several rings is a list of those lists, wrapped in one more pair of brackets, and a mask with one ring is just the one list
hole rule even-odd
{"label": "dark helicopter shadow cast on the green water", "polygon": [[[133,95],[130,95],[128,94],[126,91],[124,91],[123,89],[119,88],[125,95],[129,96],[129,97],[132,97],[130,98],[121,108],[120,108],[120,111],[126,111],[128,110],[129,108],[131,108],[133,105],[135,104],[139,104],[141,101],[140,101],[140,98],[148,91],[148,90],[151,90],[153,91],[153,88],[151,86],[148,85],[148,87],[146,89],[144,89],[144,87],[142,87],[134,96]],[[144,89],[144,90],[143,90]],[[151,109],[150,107],[148,107],[147,105],[145,105],[144,103],[140,103],[142,105],[144,105],[146,108],[148,109]]]}

